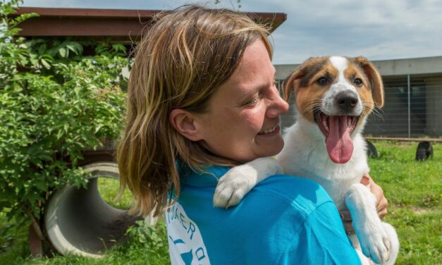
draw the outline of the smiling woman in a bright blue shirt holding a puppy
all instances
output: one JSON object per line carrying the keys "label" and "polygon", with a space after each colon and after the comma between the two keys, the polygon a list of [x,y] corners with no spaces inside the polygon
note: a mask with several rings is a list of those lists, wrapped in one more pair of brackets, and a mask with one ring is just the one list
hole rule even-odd
{"label": "smiling woman in a bright blue shirt holding a puppy", "polygon": [[360,264],[316,183],[275,175],[237,207],[212,207],[231,166],[283,147],[278,123],[288,104],[274,83],[268,34],[240,13],[184,6],[137,47],[121,187],[139,214],[167,209],[172,264]]}

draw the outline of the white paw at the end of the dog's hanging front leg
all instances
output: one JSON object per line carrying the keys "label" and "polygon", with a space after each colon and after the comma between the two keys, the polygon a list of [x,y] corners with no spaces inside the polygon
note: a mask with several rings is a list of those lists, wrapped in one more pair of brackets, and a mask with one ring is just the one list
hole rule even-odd
{"label": "white paw at the end of the dog's hanging front leg", "polygon": [[376,264],[386,264],[391,256],[391,241],[381,222],[364,228],[355,228],[362,252],[371,257]]}

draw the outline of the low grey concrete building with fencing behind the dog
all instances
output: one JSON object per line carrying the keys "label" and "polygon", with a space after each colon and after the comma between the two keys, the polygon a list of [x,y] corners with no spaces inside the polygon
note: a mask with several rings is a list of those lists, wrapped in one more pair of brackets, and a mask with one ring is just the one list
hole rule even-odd
{"label": "low grey concrete building with fencing behind the dog", "polygon": [[[442,136],[442,56],[372,61],[385,87],[385,106],[369,116],[364,135],[376,137]],[[277,65],[281,84],[298,65]],[[293,104],[294,99],[290,99]],[[293,123],[295,108],[282,118]]]}

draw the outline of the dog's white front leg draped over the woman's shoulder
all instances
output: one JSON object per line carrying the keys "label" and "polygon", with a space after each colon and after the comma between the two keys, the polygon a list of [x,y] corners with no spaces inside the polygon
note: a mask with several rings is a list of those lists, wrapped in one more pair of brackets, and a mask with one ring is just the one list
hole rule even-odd
{"label": "dog's white front leg draped over the woman's shoulder", "polygon": [[271,157],[235,166],[219,178],[214,193],[214,206],[223,208],[235,206],[261,180],[282,173],[283,169],[278,161]]}

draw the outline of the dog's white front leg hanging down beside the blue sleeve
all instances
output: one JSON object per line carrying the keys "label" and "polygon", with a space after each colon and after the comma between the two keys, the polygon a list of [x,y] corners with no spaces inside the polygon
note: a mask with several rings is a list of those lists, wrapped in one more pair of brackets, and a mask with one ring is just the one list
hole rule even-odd
{"label": "dog's white front leg hanging down beside the blue sleeve", "polygon": [[376,197],[367,186],[353,184],[345,197],[362,252],[377,264],[385,264],[391,254],[391,240],[376,211]]}

